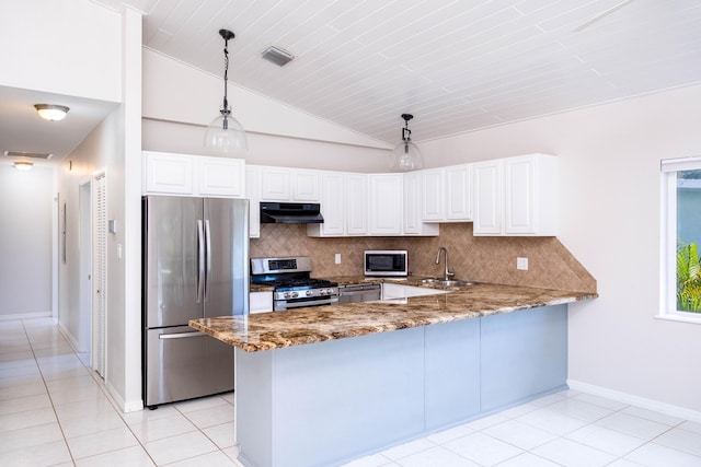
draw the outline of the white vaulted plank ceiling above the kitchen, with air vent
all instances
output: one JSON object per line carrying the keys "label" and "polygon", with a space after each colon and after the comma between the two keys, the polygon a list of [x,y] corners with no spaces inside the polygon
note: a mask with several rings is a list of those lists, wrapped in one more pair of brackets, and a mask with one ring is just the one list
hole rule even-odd
{"label": "white vaulted plank ceiling above the kitchen, with air vent", "polygon": [[231,82],[390,144],[403,113],[422,141],[701,82],[701,0],[93,1],[220,77],[229,28]]}

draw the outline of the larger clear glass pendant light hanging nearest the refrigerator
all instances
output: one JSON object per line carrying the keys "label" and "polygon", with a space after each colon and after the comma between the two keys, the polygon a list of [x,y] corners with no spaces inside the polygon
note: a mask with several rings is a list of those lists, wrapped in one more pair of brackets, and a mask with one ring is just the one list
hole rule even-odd
{"label": "larger clear glass pendant light hanging nearest the refrigerator", "polygon": [[239,121],[231,116],[231,108],[227,100],[227,82],[229,79],[229,39],[234,34],[229,30],[219,30],[219,35],[223,38],[223,104],[219,115],[207,127],[205,135],[205,148],[218,155],[231,157],[245,157],[249,151],[249,143],[245,138],[245,130]]}

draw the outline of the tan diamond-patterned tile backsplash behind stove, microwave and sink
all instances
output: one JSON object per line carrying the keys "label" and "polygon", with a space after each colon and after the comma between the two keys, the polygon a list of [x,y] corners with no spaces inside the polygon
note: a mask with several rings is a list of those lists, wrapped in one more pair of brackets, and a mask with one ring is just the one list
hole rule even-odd
{"label": "tan diamond-patterned tile backsplash behind stove, microwave and sink", "polygon": [[[252,257],[311,256],[315,277],[361,276],[366,249],[406,249],[414,275],[440,276],[443,255],[448,249],[450,270],[458,279],[528,285],[536,288],[596,292],[596,279],[556,237],[475,237],[472,223],[440,224],[437,237],[338,237],[307,236],[307,225],[262,224],[261,237],[250,243]],[[335,254],[341,264],[334,264]],[[528,258],[528,270],[516,269],[516,258]]]}

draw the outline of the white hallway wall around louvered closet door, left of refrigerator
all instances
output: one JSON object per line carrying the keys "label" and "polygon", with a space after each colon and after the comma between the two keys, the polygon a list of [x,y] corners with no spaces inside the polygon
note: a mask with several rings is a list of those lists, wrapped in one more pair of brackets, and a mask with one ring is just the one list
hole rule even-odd
{"label": "white hallway wall around louvered closet door, left of refrigerator", "polygon": [[[141,17],[127,10],[112,20],[119,42],[124,38],[118,57],[124,102],[61,162],[57,187],[69,206],[69,229],[78,232],[79,185],[106,173],[107,219],[116,221],[117,230],[106,243],[105,386],[119,407],[130,411],[141,408]],[[77,242],[69,238],[68,260],[59,268],[61,324],[80,318]]]}

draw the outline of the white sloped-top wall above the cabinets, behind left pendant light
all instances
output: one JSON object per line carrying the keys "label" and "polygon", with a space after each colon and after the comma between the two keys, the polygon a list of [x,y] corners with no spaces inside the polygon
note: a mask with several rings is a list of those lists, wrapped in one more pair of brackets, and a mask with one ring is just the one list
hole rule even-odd
{"label": "white sloped-top wall above the cabinets, behind left pendant light", "polygon": [[[197,92],[183,92],[197,90]],[[218,115],[222,78],[143,49],[143,149],[208,154],[205,127]],[[391,147],[229,83],[232,115],[253,164],[386,172]]]}

